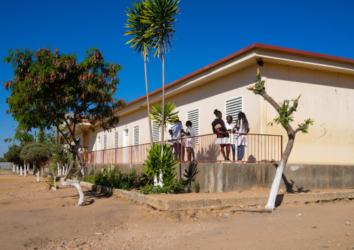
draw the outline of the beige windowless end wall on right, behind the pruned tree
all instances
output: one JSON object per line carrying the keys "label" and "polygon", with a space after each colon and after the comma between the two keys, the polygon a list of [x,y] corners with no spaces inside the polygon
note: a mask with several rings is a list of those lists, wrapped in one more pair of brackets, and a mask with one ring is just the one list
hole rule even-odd
{"label": "beige windowless end wall on right, behind the pruned tree", "polygon": [[[354,162],[354,77],[338,73],[306,70],[268,64],[267,92],[277,102],[294,99],[300,102],[294,114],[293,127],[311,118],[309,134],[299,132],[290,162]],[[275,118],[275,109],[265,103],[268,122]],[[267,133],[286,134],[280,125],[267,127]]]}

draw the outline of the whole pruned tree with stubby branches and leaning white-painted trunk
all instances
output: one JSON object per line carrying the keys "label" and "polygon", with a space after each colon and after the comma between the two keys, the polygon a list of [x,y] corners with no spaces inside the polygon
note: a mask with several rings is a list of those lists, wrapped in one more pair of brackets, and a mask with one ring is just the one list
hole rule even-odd
{"label": "whole pruned tree with stubby branches and leaning white-painted trunk", "polygon": [[[300,96],[296,100],[284,100],[283,103],[278,104],[275,100],[265,92],[265,81],[262,81],[261,74],[256,75],[256,80],[254,81],[254,86],[247,88],[249,91],[253,91],[256,95],[261,95],[267,102],[269,102],[272,107],[277,111],[277,117],[274,119],[275,124],[280,124],[286,130],[288,134],[288,143],[286,143],[286,148],[282,155],[282,159],[280,159],[279,166],[277,167],[277,172],[275,173],[275,178],[272,183],[272,188],[270,189],[270,195],[268,199],[267,205],[265,205],[265,209],[274,210],[275,208],[275,198],[277,198],[277,192],[279,189],[280,180],[282,179],[282,173],[284,170],[284,166],[286,166],[286,162],[288,162],[288,157],[293,149],[295,135],[299,131],[302,133],[307,133],[309,125],[314,123],[310,118],[305,120],[303,123],[299,124],[298,127],[294,130],[291,127],[291,122],[293,121],[293,112],[298,108],[298,102]],[[291,106],[290,103],[293,102]],[[268,125],[272,125],[272,123],[268,123]]]}

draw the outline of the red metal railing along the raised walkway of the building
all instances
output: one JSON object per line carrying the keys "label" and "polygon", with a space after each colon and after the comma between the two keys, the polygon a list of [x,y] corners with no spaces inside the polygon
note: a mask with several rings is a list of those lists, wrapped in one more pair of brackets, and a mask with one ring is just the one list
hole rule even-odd
{"label": "red metal railing along the raised walkway of the building", "polygon": [[[233,162],[233,150],[229,144],[237,143],[237,137],[247,136],[248,146],[240,161],[238,159],[238,147],[235,145],[236,162],[279,162],[282,158],[283,139],[281,135],[272,134],[238,134],[220,133],[201,136],[186,137],[177,140],[165,141],[173,148],[174,154],[180,162]],[[242,137],[241,137],[242,138]],[[235,141],[236,139],[236,141]],[[86,161],[88,164],[121,164],[144,163],[150,150],[150,143],[128,146],[123,148],[111,148],[88,152]],[[224,159],[222,150],[226,155]],[[229,157],[227,152],[229,150]],[[190,153],[190,159],[188,158]]]}

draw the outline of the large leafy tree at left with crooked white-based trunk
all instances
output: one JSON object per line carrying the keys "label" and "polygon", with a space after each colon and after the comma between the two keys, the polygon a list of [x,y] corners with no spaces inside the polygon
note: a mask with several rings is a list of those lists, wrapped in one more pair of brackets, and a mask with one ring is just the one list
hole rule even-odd
{"label": "large leafy tree at left with crooked white-based trunk", "polygon": [[[103,130],[110,130],[118,121],[114,111],[123,106],[123,100],[114,97],[121,70],[118,63],[104,60],[97,47],[86,51],[86,57],[77,63],[75,53],[61,54],[49,47],[38,49],[10,49],[3,62],[14,68],[14,78],[3,82],[10,97],[6,100],[11,114],[21,130],[40,127],[49,129],[52,125],[63,135],[72,155],[68,173],[61,185],[75,186],[79,190],[79,204],[84,202],[82,189],[77,181],[66,182],[77,157],[79,141],[75,132],[82,123],[89,123],[91,129],[99,123]],[[64,136],[61,125],[73,143]],[[79,173],[84,162],[79,162]]]}

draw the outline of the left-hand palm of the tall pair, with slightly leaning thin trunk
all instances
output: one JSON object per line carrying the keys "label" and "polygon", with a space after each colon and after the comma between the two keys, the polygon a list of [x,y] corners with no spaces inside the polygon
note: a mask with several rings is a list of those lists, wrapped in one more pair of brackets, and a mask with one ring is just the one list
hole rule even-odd
{"label": "left-hand palm of the tall pair, with slightly leaning thin trunk", "polygon": [[[149,0],[147,0],[149,1]],[[148,101],[148,74],[146,71],[146,58],[148,57],[148,52],[151,51],[151,47],[155,46],[152,38],[149,38],[147,31],[149,25],[141,22],[141,19],[144,17],[146,2],[141,1],[141,3],[132,3],[132,8],[128,7],[129,12],[125,11],[128,15],[127,24],[125,28],[129,29],[124,33],[124,35],[134,36],[132,40],[126,42],[125,44],[132,44],[130,49],[134,48],[134,52],[138,51],[141,53],[141,56],[144,58],[144,69],[145,69],[145,86],[146,86],[146,104],[148,105],[148,113],[150,112],[150,104]],[[151,129],[151,122],[148,119],[148,130],[150,132],[150,141],[151,146],[153,146],[153,132]]]}

